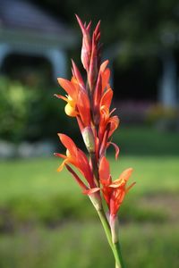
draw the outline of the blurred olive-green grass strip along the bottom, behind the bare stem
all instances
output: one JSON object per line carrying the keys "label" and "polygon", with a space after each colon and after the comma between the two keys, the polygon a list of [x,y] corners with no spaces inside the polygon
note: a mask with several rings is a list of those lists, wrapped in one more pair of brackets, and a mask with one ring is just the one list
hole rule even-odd
{"label": "blurred olive-green grass strip along the bottom, behind the bare stem", "polygon": [[[178,267],[178,225],[121,226],[120,241],[129,268]],[[108,268],[113,255],[99,222],[69,222],[58,229],[22,230],[0,242],[1,268]]]}

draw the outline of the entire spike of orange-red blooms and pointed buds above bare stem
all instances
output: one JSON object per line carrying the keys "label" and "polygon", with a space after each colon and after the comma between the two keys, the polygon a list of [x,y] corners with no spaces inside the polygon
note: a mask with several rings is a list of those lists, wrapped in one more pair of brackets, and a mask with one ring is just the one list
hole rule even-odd
{"label": "entire spike of orange-red blooms and pointed buds above bare stem", "polygon": [[[101,63],[100,59],[100,21],[91,36],[91,21],[89,24],[83,24],[81,19],[76,17],[82,32],[81,63],[86,70],[86,80],[83,80],[77,65],[72,61],[72,79],[58,79],[66,95],[55,96],[66,102],[65,113],[76,117],[90,156],[87,157],[71,138],[58,134],[66,148],[66,155],[55,154],[64,159],[58,172],[65,166],[79,183],[83,193],[89,195],[96,208],[101,207],[103,197],[107,202],[110,224],[113,224],[125,194],[134,184],[126,186],[132,168],[122,172],[117,180],[112,180],[106,152],[107,147],[112,145],[115,147],[115,158],[119,154],[119,148],[111,141],[119,125],[119,119],[113,115],[115,109],[110,109],[113,90],[109,85],[108,61]],[[80,173],[77,174],[72,166]]]}

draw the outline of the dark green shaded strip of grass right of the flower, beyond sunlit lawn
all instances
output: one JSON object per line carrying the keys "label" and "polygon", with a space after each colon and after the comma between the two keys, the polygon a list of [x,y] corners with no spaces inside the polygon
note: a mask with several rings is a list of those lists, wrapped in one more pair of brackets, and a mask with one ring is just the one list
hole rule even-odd
{"label": "dark green shaded strip of grass right of the flower, beyond sunlit lawn", "polygon": [[179,156],[177,131],[162,131],[147,126],[119,127],[114,140],[121,147],[122,155]]}

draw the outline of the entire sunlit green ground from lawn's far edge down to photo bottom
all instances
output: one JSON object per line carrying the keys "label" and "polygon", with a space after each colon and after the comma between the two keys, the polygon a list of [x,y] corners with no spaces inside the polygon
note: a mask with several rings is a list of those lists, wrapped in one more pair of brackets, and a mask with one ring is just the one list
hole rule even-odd
{"label": "entire sunlit green ground from lawn's far edge down to photo bottom", "polygon": [[[127,267],[179,267],[179,156],[110,157],[137,184],[120,212]],[[0,163],[0,267],[113,267],[88,197],[55,158]]]}

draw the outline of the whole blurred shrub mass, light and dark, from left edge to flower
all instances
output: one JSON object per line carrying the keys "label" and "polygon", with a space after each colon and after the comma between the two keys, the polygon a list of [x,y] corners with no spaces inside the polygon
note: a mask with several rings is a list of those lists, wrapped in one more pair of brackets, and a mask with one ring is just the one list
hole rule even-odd
{"label": "whole blurred shrub mass, light and dark, from left edge to flower", "polygon": [[0,137],[19,142],[54,138],[60,126],[68,127],[64,104],[52,89],[30,88],[19,81],[0,78]]}

